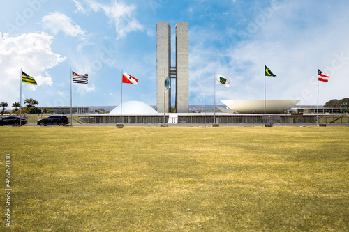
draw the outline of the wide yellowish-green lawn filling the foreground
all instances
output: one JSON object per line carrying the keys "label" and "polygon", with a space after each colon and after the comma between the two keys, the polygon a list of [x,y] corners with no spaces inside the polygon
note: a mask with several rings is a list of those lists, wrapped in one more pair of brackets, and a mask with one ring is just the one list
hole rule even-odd
{"label": "wide yellowish-green lawn filling the foreground", "polygon": [[0,139],[13,231],[349,231],[349,127],[0,127]]}

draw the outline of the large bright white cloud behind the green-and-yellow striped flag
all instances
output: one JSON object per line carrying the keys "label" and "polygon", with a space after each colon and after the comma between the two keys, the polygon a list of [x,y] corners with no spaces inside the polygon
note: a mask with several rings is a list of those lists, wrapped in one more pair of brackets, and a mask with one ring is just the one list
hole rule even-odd
{"label": "large bright white cloud behind the green-and-yellow striped flag", "polygon": [[[38,86],[23,84],[23,89],[35,91],[40,86],[51,86],[48,70],[64,61],[51,48],[52,36],[46,33],[24,33],[11,37],[0,33],[1,101],[20,102],[20,68],[34,77]],[[27,92],[28,93],[28,92]]]}

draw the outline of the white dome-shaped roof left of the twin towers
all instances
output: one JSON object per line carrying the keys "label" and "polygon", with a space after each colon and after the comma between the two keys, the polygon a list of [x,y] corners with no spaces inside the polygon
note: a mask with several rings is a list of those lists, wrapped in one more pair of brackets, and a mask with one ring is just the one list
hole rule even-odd
{"label": "white dome-shaped roof left of the twin towers", "polygon": [[[120,109],[121,105],[118,105],[112,111],[110,111],[109,114],[120,114]],[[158,112],[144,102],[129,101],[122,103],[122,114],[158,114]]]}

